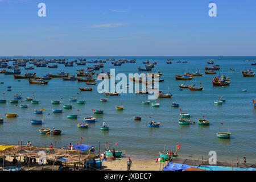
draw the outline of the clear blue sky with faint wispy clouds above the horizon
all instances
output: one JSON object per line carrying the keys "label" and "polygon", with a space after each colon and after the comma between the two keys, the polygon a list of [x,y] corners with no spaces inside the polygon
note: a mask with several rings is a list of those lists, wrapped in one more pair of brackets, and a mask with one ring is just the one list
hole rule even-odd
{"label": "clear blue sky with faint wispy clouds above the horizon", "polygon": [[255,56],[255,10],[255,0],[0,0],[0,56]]}

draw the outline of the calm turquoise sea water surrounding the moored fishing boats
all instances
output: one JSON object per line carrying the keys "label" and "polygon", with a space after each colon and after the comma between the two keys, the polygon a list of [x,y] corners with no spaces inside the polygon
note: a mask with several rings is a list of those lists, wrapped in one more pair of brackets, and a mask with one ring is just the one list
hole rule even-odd
{"label": "calm turquoise sea water surrounding the moored fishing boats", "polygon": [[[18,57],[14,57],[18,58]],[[26,57],[24,57],[26,58]],[[28,57],[31,58],[31,57]],[[40,57],[36,57],[40,58]],[[241,70],[252,68],[256,72],[256,67],[251,66],[252,62],[243,60],[256,60],[256,56],[245,57],[41,57],[44,59],[69,59],[86,58],[94,60],[96,58],[105,59],[136,59],[136,63],[125,63],[121,67],[114,67],[111,61],[104,63],[104,71],[109,72],[110,68],[115,68],[117,73],[138,72],[138,67],[144,67],[142,61],[157,61],[154,71],[160,71],[164,82],[159,83],[159,90],[164,93],[170,92],[172,98],[159,98],[160,107],[151,105],[142,105],[141,101],[145,99],[144,94],[121,94],[121,96],[105,96],[97,92],[97,85],[93,87],[92,92],[80,92],[78,87],[85,87],[85,82],[63,81],[62,78],[52,78],[48,85],[29,84],[28,80],[14,80],[13,75],[0,74],[0,99],[5,98],[6,104],[0,104],[0,118],[4,118],[4,123],[0,124],[0,143],[18,144],[18,140],[27,143],[28,140],[35,146],[49,146],[50,143],[56,143],[56,147],[66,147],[67,144],[76,144],[80,137],[84,138],[82,143],[90,144],[98,148],[100,142],[101,151],[105,150],[105,143],[110,141],[110,147],[126,152],[126,156],[134,158],[158,158],[159,152],[164,150],[176,150],[176,143],[181,145],[178,151],[180,157],[198,158],[203,156],[209,158],[209,151],[217,152],[217,160],[241,161],[246,156],[247,163],[256,162],[256,107],[253,106],[252,99],[256,97],[256,77],[243,77]],[[172,64],[166,64],[167,59],[174,59]],[[185,72],[195,73],[200,71],[204,73],[204,67],[209,67],[207,59],[213,59],[214,64],[220,65],[220,71],[226,77],[230,77],[231,84],[225,88],[213,87],[211,80],[217,75],[203,75],[194,77],[188,81],[176,81],[175,75],[181,75]],[[188,63],[176,63],[177,60],[187,60]],[[11,63],[11,62],[10,62]],[[10,64],[9,63],[9,64]],[[27,63],[28,64],[28,63]],[[33,65],[34,66],[34,65]],[[60,71],[69,72],[75,75],[76,69],[92,67],[92,63],[86,63],[86,66],[64,67],[59,64],[58,68],[35,68],[34,70],[24,70],[24,72],[36,72],[36,75],[42,77],[47,73],[57,74]],[[235,71],[230,71],[233,68]],[[102,69],[100,69],[102,70]],[[100,71],[95,71],[100,73]],[[96,76],[94,76],[96,77]],[[179,90],[179,84],[197,84],[204,86],[203,91],[190,91],[188,89]],[[7,92],[7,86],[12,87],[11,92]],[[247,89],[247,92],[242,92]],[[5,94],[3,94],[5,92]],[[10,104],[15,94],[22,93],[23,102],[19,101],[18,106]],[[34,94],[32,94],[34,93]],[[79,94],[77,94],[79,93]],[[218,96],[225,96],[226,102],[222,105],[214,105],[214,100]],[[33,97],[38,100],[38,105],[28,102],[28,109],[19,108],[24,104],[24,98]],[[63,105],[71,104],[68,98],[77,97],[77,100],[86,101],[85,105],[78,105],[74,102],[73,109],[64,109],[61,114],[53,114],[52,109],[63,109]],[[108,98],[108,102],[100,102],[100,98]],[[62,99],[61,99],[62,98]],[[51,100],[60,100],[60,105],[52,105]],[[171,107],[171,102],[177,102],[185,112],[191,113],[192,121],[195,124],[180,126],[179,108]],[[122,103],[124,110],[116,111],[115,106]],[[42,119],[42,115],[34,114],[34,109],[46,109],[44,111],[44,123],[42,126],[31,125],[31,119]],[[104,109],[104,114],[96,115],[96,122],[90,123],[88,129],[77,128],[77,123],[83,122],[83,118],[94,115],[92,109]],[[78,111],[80,110],[80,111]],[[6,113],[18,114],[17,118],[6,118]],[[77,119],[68,119],[67,114],[78,114]],[[134,116],[141,116],[142,121],[134,121]],[[148,117],[161,123],[159,128],[147,126]],[[209,126],[199,126],[197,119],[208,119]],[[102,122],[110,127],[109,131],[101,131]],[[221,122],[224,123],[221,128]],[[55,127],[62,130],[59,136],[47,136],[39,133],[39,129],[46,125],[47,128]],[[232,133],[230,139],[220,139],[216,137],[217,132]],[[114,146],[118,143],[118,146]]]}

